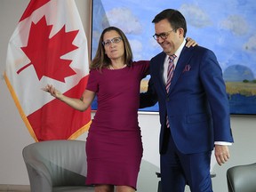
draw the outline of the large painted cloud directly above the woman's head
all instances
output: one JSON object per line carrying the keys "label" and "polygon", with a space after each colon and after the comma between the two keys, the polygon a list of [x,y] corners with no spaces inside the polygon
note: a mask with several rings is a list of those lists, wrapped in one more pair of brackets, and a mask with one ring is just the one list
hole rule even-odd
{"label": "large painted cloud directly above the woman's head", "polygon": [[[140,34],[142,26],[140,20],[130,9],[118,7],[106,12],[110,26],[116,26],[124,31],[124,34]],[[103,24],[104,25],[104,24]]]}

